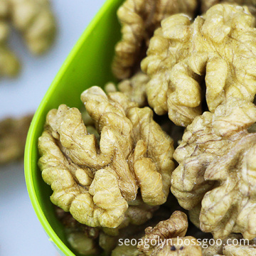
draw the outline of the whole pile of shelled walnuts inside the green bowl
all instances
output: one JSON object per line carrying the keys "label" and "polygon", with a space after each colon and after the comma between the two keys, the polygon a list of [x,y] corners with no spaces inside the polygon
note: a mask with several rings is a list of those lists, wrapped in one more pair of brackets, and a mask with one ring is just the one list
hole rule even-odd
{"label": "whole pile of shelled walnuts inside the green bowl", "polygon": [[38,164],[81,254],[256,255],[256,1],[219,2],[124,1],[119,84],[48,112]]}

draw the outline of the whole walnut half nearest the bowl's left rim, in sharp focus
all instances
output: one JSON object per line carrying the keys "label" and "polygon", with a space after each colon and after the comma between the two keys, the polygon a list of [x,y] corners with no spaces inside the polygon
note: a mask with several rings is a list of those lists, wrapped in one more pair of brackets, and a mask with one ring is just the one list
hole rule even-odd
{"label": "whole walnut half nearest the bowl's left rim, in sharp focus", "polygon": [[78,109],[50,110],[39,138],[39,166],[51,185],[51,201],[80,223],[116,228],[128,202],[151,206],[166,201],[174,169],[173,140],[153,120],[153,112],[121,92],[106,95],[91,87],[81,95],[100,134],[89,134]]}

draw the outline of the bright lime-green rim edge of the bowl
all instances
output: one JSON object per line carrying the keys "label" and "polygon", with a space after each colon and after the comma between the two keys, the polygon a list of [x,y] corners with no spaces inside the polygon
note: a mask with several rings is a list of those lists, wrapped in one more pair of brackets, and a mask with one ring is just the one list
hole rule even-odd
{"label": "bright lime-green rim edge of the bowl", "polygon": [[55,245],[56,249],[61,252],[65,253],[65,255],[69,256],[75,256],[75,254],[65,245],[65,243],[58,237],[58,235],[55,233],[53,228],[51,228],[50,223],[48,223],[48,220],[46,216],[43,213],[43,210],[40,206],[40,203],[38,201],[38,198],[36,196],[36,188],[33,183],[33,166],[32,166],[32,151],[33,151],[33,143],[34,143],[34,134],[36,132],[36,129],[38,128],[36,124],[38,124],[38,119],[40,119],[41,114],[43,112],[43,109],[46,107],[47,99],[52,94],[52,92],[55,90],[55,87],[58,86],[59,81],[61,78],[63,78],[63,75],[65,74],[65,71],[69,68],[70,64],[73,61],[73,58],[75,58],[75,55],[79,52],[80,48],[83,46],[83,42],[85,39],[90,36],[90,33],[94,30],[95,26],[97,26],[97,23],[99,23],[102,16],[105,14],[105,11],[111,6],[112,2],[114,0],[107,0],[102,5],[100,10],[97,12],[94,18],[92,18],[92,21],[90,21],[87,28],[85,28],[85,31],[82,33],[82,36],[78,39],[77,43],[75,43],[75,46],[68,54],[68,57],[65,59],[63,65],[60,67],[60,70],[58,71],[57,75],[55,76],[53,82],[50,84],[50,87],[48,88],[46,95],[44,95],[43,99],[41,100],[40,105],[38,106],[38,109],[36,110],[36,113],[33,116],[30,128],[28,130],[28,135],[26,138],[26,146],[25,146],[25,153],[24,153],[24,173],[25,173],[25,180],[26,180],[26,188],[28,191],[28,196],[31,200],[33,209],[36,212],[36,215],[38,217],[38,220],[40,221],[41,225],[43,226],[43,229],[46,231],[46,234],[48,235],[48,238],[51,242],[53,242],[53,245]]}

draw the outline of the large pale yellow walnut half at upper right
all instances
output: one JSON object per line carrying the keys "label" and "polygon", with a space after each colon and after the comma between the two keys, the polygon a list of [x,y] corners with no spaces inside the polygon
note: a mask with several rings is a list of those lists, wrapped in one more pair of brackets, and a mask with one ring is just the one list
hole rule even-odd
{"label": "large pale yellow walnut half at upper right", "polygon": [[210,112],[228,97],[252,102],[255,49],[255,17],[246,6],[217,4],[193,23],[184,14],[164,19],[142,60],[151,79],[146,85],[149,105],[186,127],[201,114],[205,97]]}

